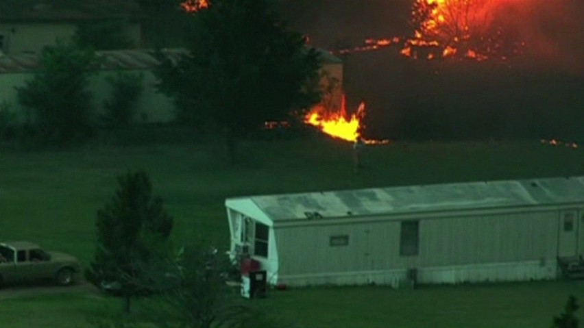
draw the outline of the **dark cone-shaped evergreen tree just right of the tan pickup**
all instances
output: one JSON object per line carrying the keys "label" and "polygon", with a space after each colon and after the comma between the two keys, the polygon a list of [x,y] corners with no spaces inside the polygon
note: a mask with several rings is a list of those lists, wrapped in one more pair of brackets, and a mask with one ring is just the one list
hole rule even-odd
{"label": "dark cone-shaped evergreen tree just right of the tan pickup", "polygon": [[86,270],[86,279],[95,286],[117,281],[130,312],[130,299],[143,291],[141,264],[156,253],[154,246],[168,240],[173,218],[162,207],[160,197],[152,196],[152,185],[143,171],[118,177],[119,188],[103,209],[97,212],[97,250]]}

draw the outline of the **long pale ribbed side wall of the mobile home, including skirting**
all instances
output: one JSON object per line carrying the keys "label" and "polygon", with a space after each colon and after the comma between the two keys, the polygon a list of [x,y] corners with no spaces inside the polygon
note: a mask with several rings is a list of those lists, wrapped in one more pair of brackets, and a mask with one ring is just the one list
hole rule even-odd
{"label": "long pale ribbed side wall of the mobile home, including skirting", "polygon": [[[416,268],[424,283],[556,277],[557,210],[419,217],[419,253],[400,255],[401,220],[277,227],[278,282],[291,285],[379,283],[399,286]],[[410,220],[410,219],[409,219]],[[333,235],[349,236],[330,247]]]}

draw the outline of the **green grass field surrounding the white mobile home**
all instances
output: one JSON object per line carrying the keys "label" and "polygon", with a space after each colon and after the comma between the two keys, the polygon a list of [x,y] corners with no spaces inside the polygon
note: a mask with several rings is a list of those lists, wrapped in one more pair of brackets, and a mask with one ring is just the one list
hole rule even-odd
{"label": "green grass field surrounding the white mobile home", "polygon": [[[0,240],[32,240],[88,264],[94,220],[116,177],[143,169],[175,218],[176,242],[206,240],[228,248],[226,197],[448,181],[584,175],[584,151],[539,140],[396,142],[366,149],[352,173],[352,145],[328,138],[245,142],[238,164],[219,143],[87,147],[0,153]],[[581,282],[488,286],[308,288],[273,292],[255,304],[302,327],[548,327]],[[0,294],[2,291],[0,291]],[[0,327],[88,327],[114,314],[118,299],[93,292],[0,297]]]}

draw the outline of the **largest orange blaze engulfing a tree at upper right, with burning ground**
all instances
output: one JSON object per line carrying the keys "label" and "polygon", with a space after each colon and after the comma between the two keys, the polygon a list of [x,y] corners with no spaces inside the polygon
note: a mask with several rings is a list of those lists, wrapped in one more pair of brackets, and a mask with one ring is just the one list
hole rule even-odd
{"label": "largest orange blaze engulfing a tree at upper right, with burning ground", "polygon": [[[404,40],[401,55],[408,58],[465,58],[483,61],[498,57],[507,60],[519,55],[525,42],[509,42],[495,22],[504,13],[505,3],[522,0],[413,0],[412,36],[367,39],[364,45],[341,49],[338,53],[372,51],[397,45]],[[424,53],[418,53],[424,49]],[[507,51],[507,53],[505,53]]]}

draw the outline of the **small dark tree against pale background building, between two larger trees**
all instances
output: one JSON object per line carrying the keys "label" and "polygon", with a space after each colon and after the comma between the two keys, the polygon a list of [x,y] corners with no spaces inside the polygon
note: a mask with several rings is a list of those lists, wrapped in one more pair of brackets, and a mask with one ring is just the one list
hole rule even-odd
{"label": "small dark tree against pale background building, between two larger trees", "polygon": [[108,77],[112,93],[104,101],[106,125],[110,127],[125,127],[132,123],[136,115],[136,105],[144,91],[144,75],[118,73]]}

